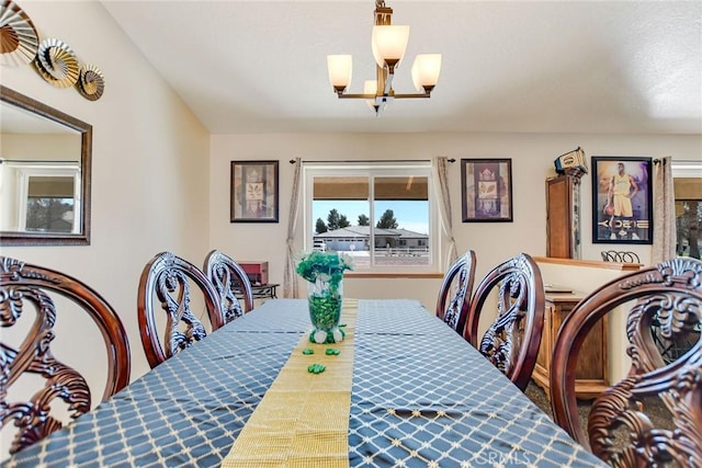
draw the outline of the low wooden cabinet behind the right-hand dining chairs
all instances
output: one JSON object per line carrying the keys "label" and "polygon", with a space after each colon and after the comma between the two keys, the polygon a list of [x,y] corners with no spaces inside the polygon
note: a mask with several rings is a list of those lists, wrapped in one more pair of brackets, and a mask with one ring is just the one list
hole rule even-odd
{"label": "low wooden cabinet behind the right-hand dining chairs", "polygon": [[[551,358],[558,330],[564,319],[582,297],[580,294],[546,293],[544,331],[532,379],[544,389],[548,398],[551,398],[548,393]],[[575,391],[578,398],[595,398],[609,387],[607,356],[608,324],[608,318],[605,316],[596,324],[582,343],[575,375]]]}

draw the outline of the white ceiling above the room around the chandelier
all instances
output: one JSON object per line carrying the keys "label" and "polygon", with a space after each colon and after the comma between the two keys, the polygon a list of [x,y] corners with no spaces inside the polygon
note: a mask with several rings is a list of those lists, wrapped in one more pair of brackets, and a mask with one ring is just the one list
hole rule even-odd
{"label": "white ceiling above the room around the chandelier", "polygon": [[702,1],[387,0],[414,56],[443,54],[429,100],[381,116],[339,100],[328,54],[373,79],[373,0],[117,1],[105,9],[212,134],[702,134]]}

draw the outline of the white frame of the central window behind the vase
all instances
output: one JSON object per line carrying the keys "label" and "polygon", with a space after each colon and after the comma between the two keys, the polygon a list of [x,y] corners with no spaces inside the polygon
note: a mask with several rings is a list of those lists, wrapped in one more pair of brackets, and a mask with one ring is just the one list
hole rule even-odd
{"label": "white frame of the central window behind the vase", "polygon": [[[373,178],[376,176],[407,176],[419,175],[427,178],[428,190],[428,212],[429,226],[429,262],[426,265],[373,265],[370,269],[354,269],[354,271],[364,273],[437,273],[441,271],[441,229],[439,227],[439,209],[437,206],[434,181],[431,170],[431,161],[339,161],[339,162],[305,162],[302,174],[302,199],[303,199],[303,226],[304,226],[304,250],[313,250],[314,222],[313,219],[313,181],[316,176],[369,176],[370,182],[370,199],[373,199]],[[375,226],[376,215],[371,209],[369,214],[369,225]]]}

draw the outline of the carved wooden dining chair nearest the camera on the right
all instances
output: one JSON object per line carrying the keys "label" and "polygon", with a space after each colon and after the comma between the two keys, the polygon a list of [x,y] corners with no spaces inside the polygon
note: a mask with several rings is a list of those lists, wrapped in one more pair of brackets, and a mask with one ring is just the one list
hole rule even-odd
{"label": "carved wooden dining chair nearest the camera on the right", "polygon": [[[586,433],[575,397],[579,352],[590,329],[626,303],[631,367],[626,377],[597,397]],[[588,295],[564,320],[554,346],[551,402],[558,425],[613,466],[702,467],[701,323],[700,260],[666,261]],[[655,333],[690,344],[666,362]]]}

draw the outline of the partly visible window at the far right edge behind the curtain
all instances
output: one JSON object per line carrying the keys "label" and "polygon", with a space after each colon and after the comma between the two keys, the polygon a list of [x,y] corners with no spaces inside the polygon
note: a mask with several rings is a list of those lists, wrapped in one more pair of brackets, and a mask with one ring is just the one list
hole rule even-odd
{"label": "partly visible window at the far right edge behind the curtain", "polygon": [[702,161],[672,161],[676,196],[676,252],[700,258],[702,249]]}

